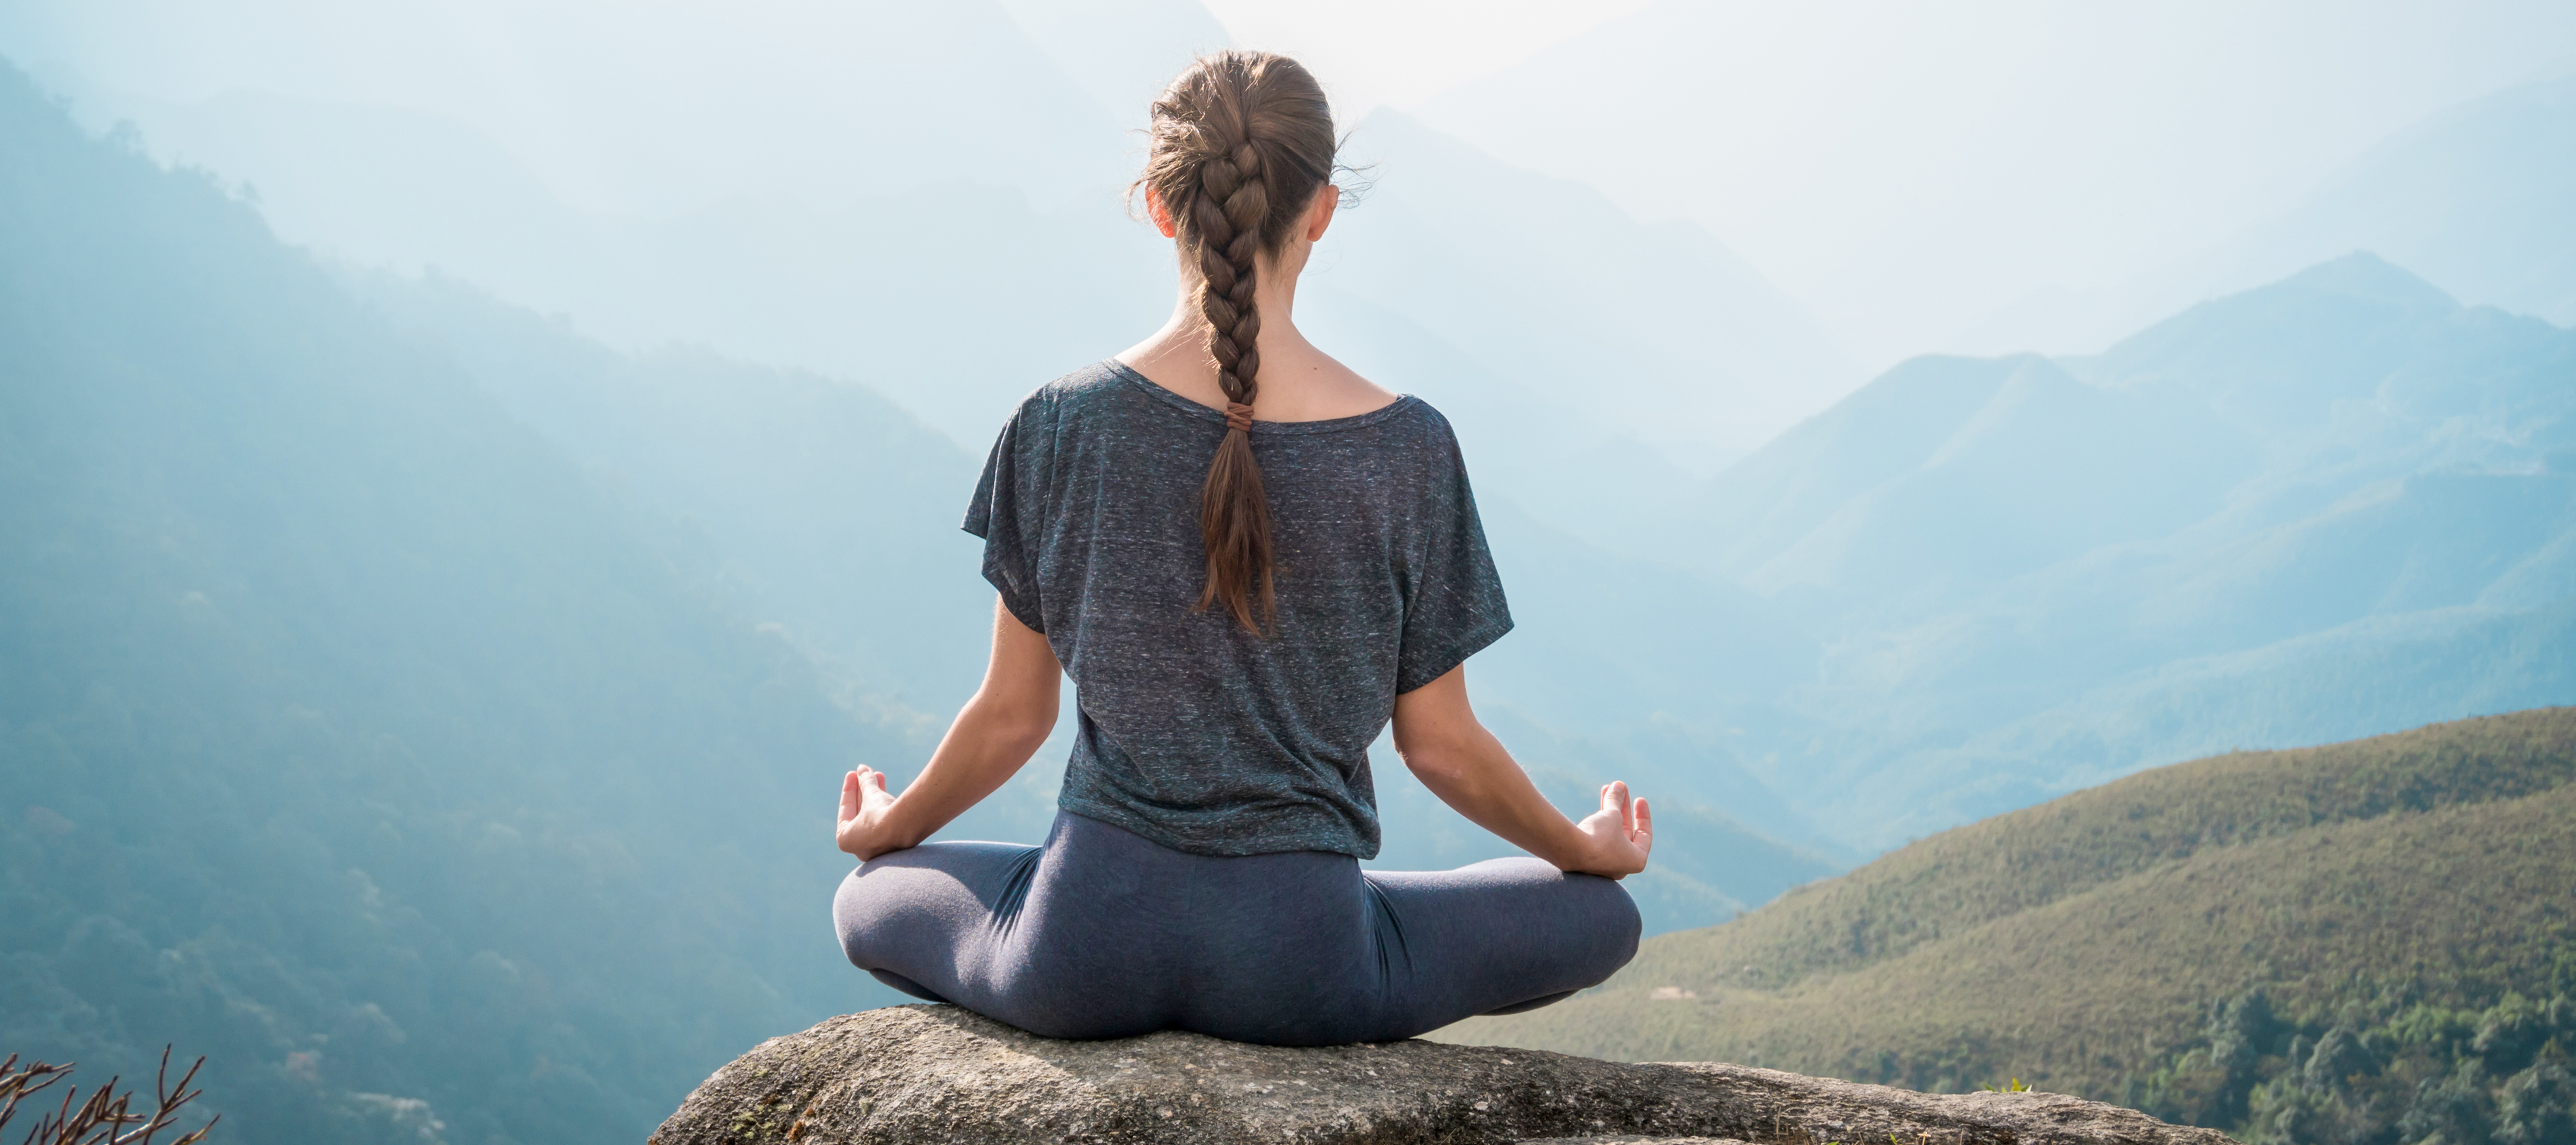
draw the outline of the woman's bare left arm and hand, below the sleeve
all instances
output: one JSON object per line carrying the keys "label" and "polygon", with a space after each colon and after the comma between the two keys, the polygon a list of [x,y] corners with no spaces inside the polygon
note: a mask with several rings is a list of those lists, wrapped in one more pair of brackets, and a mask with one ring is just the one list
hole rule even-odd
{"label": "woman's bare left arm and hand, below the sleeve", "polygon": [[958,709],[940,748],[930,753],[930,766],[902,797],[886,794],[886,774],[876,768],[863,766],[840,779],[840,848],[876,859],[920,846],[1010,781],[1056,730],[1061,676],[1046,637],[994,598],[984,686]]}

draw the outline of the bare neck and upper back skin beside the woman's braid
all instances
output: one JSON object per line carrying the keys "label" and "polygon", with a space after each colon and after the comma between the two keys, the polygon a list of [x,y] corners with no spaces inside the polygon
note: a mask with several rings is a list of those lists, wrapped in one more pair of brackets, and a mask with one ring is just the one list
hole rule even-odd
{"label": "bare neck and upper back skin beside the woman's braid", "polygon": [[[1211,410],[1226,407],[1226,392],[1216,384],[1216,361],[1208,358],[1208,320],[1200,317],[1185,281],[1180,302],[1162,330],[1128,346],[1118,361],[1180,397]],[[1252,415],[1257,420],[1329,420],[1355,418],[1396,400],[1394,392],[1368,382],[1350,366],[1332,361],[1314,348],[1296,320],[1296,276],[1265,273],[1252,294],[1262,315],[1260,371],[1252,377]]]}

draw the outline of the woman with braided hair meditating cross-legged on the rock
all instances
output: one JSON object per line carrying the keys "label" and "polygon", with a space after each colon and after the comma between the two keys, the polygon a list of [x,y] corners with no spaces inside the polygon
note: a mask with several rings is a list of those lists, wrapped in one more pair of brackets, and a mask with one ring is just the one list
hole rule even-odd
{"label": "woman with braided hair meditating cross-legged on the rock", "polygon": [[[1510,632],[1448,423],[1291,322],[1332,224],[1332,111],[1293,59],[1221,52],[1154,103],[1139,178],[1182,302],[1046,384],[966,531],[999,588],[984,686],[894,797],[850,771],[835,900],[850,962],[1048,1037],[1414,1037],[1610,977],[1618,877],[1654,820],[1625,784],[1569,823],[1476,722],[1466,658]],[[922,843],[1056,722],[1079,738],[1046,846]],[[1368,743],[1535,859],[1360,872]]]}

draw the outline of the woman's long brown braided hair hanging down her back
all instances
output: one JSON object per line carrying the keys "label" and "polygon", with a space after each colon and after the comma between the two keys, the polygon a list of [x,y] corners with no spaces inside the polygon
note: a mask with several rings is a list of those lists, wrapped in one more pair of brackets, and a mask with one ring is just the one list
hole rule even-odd
{"label": "woman's long brown braided hair hanging down her back", "polygon": [[1151,188],[1198,284],[1208,358],[1226,392],[1226,438],[1198,495],[1208,583],[1198,609],[1224,603],[1247,632],[1278,619],[1270,500],[1252,459],[1262,315],[1257,255],[1278,253],[1332,178],[1332,106],[1296,59],[1270,52],[1200,57],[1154,101],[1151,150],[1136,186]]}

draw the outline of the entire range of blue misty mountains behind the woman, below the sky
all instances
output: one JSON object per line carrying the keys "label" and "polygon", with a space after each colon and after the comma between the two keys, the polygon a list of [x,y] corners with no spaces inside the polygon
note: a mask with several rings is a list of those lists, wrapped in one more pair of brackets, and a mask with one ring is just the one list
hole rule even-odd
{"label": "entire range of blue misty mountains behind the woman, below the sky", "polygon": [[[1170,304],[1084,157],[1126,72],[922,21],[1061,106],[829,204],[572,201],[520,152],[580,124],[46,70],[139,124],[85,137],[0,83],[13,1047],[180,1039],[273,1140],[631,1140],[891,1001],[824,946],[822,799],[974,689],[1002,410]],[[2099,356],[1862,382],[1705,230],[1388,111],[1301,325],[1458,423],[1520,619],[1479,709],[1561,805],[1662,799],[1672,931],[2141,766],[2576,699],[2568,132],[2499,93]],[[1061,753],[951,836],[1033,838]],[[1504,851],[1378,781],[1381,866]]]}

